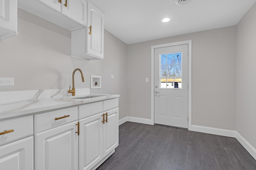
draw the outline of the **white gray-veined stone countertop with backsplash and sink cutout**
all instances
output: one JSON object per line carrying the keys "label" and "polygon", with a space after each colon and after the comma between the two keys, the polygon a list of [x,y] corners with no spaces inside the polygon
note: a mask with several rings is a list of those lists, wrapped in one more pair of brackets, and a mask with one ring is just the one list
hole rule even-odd
{"label": "white gray-veined stone countertop with backsplash and sink cutout", "polygon": [[[86,104],[119,97],[119,95],[100,94],[104,96],[88,99],[74,99],[74,97],[87,96],[93,94],[83,94],[80,92],[77,93],[76,96],[65,96],[65,93],[66,90],[31,90],[17,92],[0,92],[0,120],[26,114],[49,111],[52,109],[60,109],[62,107],[78,106],[80,104]],[[3,96],[5,96],[6,99],[4,99]]]}

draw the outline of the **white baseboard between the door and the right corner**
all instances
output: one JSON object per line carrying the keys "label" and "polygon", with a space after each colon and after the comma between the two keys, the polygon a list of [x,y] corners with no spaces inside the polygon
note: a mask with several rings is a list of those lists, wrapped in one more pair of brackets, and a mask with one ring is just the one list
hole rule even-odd
{"label": "white baseboard between the door and the right corner", "polygon": [[191,131],[209,133],[213,135],[220,135],[220,136],[226,136],[226,137],[236,137],[236,131],[218,129],[214,127],[192,125]]}

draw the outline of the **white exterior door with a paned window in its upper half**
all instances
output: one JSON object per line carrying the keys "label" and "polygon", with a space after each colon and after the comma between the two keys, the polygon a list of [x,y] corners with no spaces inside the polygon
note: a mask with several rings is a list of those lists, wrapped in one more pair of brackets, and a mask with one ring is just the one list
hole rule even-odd
{"label": "white exterior door with a paned window in its upper half", "polygon": [[188,128],[188,44],[154,49],[154,123]]}

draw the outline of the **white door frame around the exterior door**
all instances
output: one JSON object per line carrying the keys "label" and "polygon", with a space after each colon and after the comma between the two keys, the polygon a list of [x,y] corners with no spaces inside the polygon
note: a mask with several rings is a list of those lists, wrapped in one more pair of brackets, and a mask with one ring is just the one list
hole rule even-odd
{"label": "white door frame around the exterior door", "polygon": [[188,44],[188,130],[192,128],[192,40],[151,46],[151,124],[154,125],[154,49]]}

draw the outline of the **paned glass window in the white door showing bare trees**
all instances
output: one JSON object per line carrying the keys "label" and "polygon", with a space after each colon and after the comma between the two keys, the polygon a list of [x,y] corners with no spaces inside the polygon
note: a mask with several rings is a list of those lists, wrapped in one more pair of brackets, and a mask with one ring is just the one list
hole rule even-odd
{"label": "paned glass window in the white door showing bare trees", "polygon": [[160,54],[160,88],[182,88],[182,53]]}

